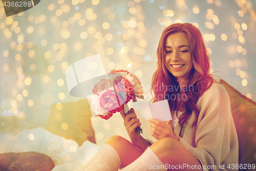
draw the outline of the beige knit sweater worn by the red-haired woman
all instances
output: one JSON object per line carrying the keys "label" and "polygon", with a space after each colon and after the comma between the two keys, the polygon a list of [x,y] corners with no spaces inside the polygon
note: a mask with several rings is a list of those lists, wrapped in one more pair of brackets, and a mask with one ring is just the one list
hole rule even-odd
{"label": "beige knit sweater worn by the red-haired woman", "polygon": [[192,127],[196,116],[193,111],[186,125],[176,125],[175,135],[208,170],[238,170],[238,136],[224,86],[213,83],[199,98],[197,107],[197,125]]}

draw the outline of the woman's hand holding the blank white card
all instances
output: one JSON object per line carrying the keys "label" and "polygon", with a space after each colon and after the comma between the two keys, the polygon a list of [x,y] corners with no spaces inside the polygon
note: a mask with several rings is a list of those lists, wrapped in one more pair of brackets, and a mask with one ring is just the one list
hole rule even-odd
{"label": "woman's hand holding the blank white card", "polygon": [[167,124],[164,121],[160,121],[157,119],[148,119],[148,121],[151,122],[150,127],[151,127],[151,135],[153,137],[155,137],[157,140],[164,138],[164,137],[173,137],[177,140],[179,140],[179,138],[177,138],[174,135],[174,131],[173,131],[173,127],[170,126],[169,124]]}

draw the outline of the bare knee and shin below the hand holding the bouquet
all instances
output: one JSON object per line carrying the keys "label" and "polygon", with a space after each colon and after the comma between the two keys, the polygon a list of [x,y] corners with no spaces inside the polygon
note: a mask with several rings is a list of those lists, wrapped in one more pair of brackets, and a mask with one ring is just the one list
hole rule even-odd
{"label": "bare knee and shin below the hand holding the bouquet", "polygon": [[113,146],[117,151],[121,160],[121,168],[131,164],[142,155],[142,152],[134,144],[118,135],[110,137],[105,143]]}

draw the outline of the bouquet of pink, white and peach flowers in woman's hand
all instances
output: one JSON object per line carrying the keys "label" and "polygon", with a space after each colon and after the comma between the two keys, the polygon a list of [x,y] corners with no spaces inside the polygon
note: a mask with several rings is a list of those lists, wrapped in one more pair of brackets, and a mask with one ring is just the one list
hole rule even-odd
{"label": "bouquet of pink, white and peach flowers in woman's hand", "polygon": [[[143,87],[137,76],[127,70],[112,70],[106,80],[101,80],[93,87],[91,96],[91,108],[103,119],[109,119],[113,113],[131,113],[127,103],[136,102],[136,97],[144,99]],[[136,132],[142,133],[140,127]]]}

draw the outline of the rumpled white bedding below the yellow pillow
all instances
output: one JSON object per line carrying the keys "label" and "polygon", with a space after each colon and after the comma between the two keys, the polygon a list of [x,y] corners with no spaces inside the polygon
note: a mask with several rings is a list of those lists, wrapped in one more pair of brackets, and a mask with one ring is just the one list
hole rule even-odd
{"label": "rumpled white bedding below the yellow pillow", "polygon": [[[34,139],[34,140],[31,140]],[[16,136],[0,135],[0,153],[38,152],[51,157],[53,171],[79,170],[97,152],[99,146],[85,141],[81,146],[43,128],[19,132]]]}

